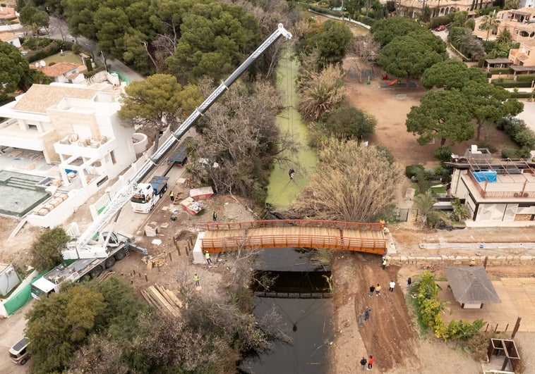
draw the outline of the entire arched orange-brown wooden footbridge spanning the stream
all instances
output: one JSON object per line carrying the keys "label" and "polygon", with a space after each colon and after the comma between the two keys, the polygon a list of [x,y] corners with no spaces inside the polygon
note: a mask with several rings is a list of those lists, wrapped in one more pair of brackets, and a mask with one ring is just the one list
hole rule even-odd
{"label": "entire arched orange-brown wooden footbridge spanning the stream", "polygon": [[383,255],[386,239],[380,223],[334,220],[256,220],[207,223],[199,235],[203,251],[234,249],[326,248]]}

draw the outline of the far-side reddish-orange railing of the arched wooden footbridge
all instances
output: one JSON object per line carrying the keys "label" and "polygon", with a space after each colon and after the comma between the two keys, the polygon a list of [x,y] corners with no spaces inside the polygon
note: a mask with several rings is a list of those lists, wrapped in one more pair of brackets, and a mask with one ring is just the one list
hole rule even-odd
{"label": "far-side reddish-orange railing of the arched wooden footbridge", "polygon": [[244,230],[265,227],[321,227],[339,230],[380,231],[380,223],[343,222],[338,220],[253,220],[247,222],[214,222],[206,223],[207,231]]}

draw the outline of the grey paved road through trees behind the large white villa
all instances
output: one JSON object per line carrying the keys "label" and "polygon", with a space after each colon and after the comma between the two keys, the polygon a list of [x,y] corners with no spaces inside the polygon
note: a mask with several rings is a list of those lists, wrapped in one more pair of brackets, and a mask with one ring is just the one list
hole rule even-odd
{"label": "grey paved road through trees behind the large white villa", "polygon": [[[50,27],[48,31],[49,31],[50,39],[60,39],[60,40],[66,40],[69,42],[75,41],[75,38],[68,32],[66,23],[57,18],[54,18],[54,17],[50,18]],[[97,42],[95,42],[94,40],[87,39],[85,37],[78,37],[76,39],[76,42],[78,42],[80,46],[83,46],[84,49],[91,51],[92,55],[95,58],[100,58],[102,61],[104,61],[104,59],[102,58],[102,54],[100,54],[100,49],[97,46]],[[144,80],[145,79],[143,75],[140,75],[135,70],[128,68],[128,66],[126,66],[124,63],[122,63],[119,60],[106,58],[106,63],[111,66],[111,70],[121,73],[122,75],[124,75],[124,77],[127,77],[129,80]]]}

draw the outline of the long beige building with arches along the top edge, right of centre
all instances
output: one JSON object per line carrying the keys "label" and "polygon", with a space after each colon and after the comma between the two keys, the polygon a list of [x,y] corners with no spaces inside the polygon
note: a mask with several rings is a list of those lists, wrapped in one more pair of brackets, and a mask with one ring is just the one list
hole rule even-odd
{"label": "long beige building with arches along the top edge, right of centre", "polygon": [[[473,0],[401,0],[397,7],[397,14],[416,18],[428,6],[431,9],[431,17],[438,17],[460,11],[471,11],[473,4]],[[492,0],[482,0],[477,4],[478,9],[489,6],[492,6]]]}

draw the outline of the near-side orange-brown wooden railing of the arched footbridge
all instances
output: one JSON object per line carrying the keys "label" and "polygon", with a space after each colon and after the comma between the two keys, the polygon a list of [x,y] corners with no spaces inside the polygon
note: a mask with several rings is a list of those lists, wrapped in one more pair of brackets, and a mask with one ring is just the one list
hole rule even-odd
{"label": "near-side orange-brown wooden railing of the arched footbridge", "polygon": [[220,252],[232,249],[256,248],[328,248],[345,249],[349,251],[363,251],[373,254],[383,254],[386,249],[386,239],[361,237],[334,237],[327,235],[253,235],[233,236],[201,239],[203,250]]}

